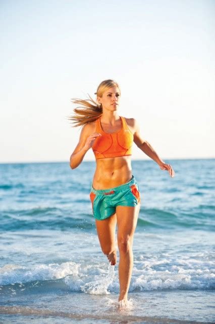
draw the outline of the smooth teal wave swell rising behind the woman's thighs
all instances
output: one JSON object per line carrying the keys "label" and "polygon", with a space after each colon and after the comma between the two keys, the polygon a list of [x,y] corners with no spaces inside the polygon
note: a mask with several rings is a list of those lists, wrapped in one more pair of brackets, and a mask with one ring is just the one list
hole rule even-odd
{"label": "smooth teal wave swell rising behind the woman's thighs", "polygon": [[[80,203],[81,204],[81,203]],[[35,206],[22,210],[2,211],[0,228],[3,231],[52,229],[67,230],[68,228],[81,228],[89,230],[94,225],[94,217],[90,204],[87,205],[88,213],[79,205],[60,206]],[[158,208],[144,208],[141,206],[138,217],[138,228],[148,229],[179,229],[193,228],[214,230],[214,206],[200,205],[193,213],[185,211],[161,210]]]}

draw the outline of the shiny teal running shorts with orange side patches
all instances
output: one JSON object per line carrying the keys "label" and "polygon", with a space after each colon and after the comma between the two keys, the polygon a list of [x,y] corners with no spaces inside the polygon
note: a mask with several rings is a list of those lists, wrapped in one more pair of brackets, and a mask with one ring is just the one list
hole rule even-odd
{"label": "shiny teal running shorts with orange side patches", "polygon": [[91,184],[90,200],[93,216],[103,220],[116,213],[117,206],[137,206],[140,203],[140,191],[134,176],[121,186],[96,190]]}

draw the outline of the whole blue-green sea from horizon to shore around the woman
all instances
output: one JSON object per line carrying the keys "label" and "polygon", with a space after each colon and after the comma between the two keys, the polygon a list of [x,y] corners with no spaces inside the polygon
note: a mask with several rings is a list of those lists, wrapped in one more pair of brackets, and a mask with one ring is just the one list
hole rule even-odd
{"label": "whole blue-green sea from horizon to shore around the woman", "polygon": [[[100,250],[94,161],[0,165],[0,323],[215,321],[215,159],[133,160],[141,194],[129,306]],[[119,260],[119,251],[118,251]]]}

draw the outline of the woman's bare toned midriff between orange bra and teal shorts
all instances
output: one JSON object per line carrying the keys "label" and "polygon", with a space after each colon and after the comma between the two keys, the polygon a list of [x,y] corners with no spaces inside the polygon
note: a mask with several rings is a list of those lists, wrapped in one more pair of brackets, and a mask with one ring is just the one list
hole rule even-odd
{"label": "woman's bare toned midriff between orange bra and teal shorts", "polygon": [[110,189],[129,182],[131,178],[131,155],[98,158],[92,186],[96,190]]}

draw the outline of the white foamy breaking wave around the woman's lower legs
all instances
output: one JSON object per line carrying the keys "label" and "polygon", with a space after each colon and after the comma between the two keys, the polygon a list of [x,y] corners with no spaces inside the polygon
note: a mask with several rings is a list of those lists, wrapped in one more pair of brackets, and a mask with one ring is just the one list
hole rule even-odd
{"label": "white foamy breaking wave around the woman's lower legs", "polygon": [[[156,269],[156,265],[159,268]],[[189,267],[188,267],[189,266]],[[8,264],[0,268],[0,294],[18,294],[29,290],[63,289],[89,294],[119,291],[114,266],[106,263],[40,264],[32,267]],[[139,260],[134,262],[130,292],[153,290],[215,290],[211,262],[197,259]]]}

